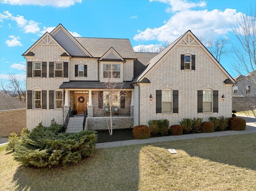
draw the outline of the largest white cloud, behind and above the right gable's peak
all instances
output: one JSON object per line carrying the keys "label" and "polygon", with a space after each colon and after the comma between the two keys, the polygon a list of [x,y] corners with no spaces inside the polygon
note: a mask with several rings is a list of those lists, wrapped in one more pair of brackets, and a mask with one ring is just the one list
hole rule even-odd
{"label": "largest white cloud, behind and above the right gable's peak", "polygon": [[[161,2],[176,5],[176,1],[161,0]],[[188,4],[188,1],[183,4]],[[204,6],[204,2],[198,4],[190,3],[188,7],[193,8],[196,5]],[[182,5],[181,5],[182,6]],[[172,8],[178,10],[178,8]],[[216,39],[218,36],[227,35],[231,31],[230,24],[236,23],[236,17],[242,13],[236,12],[235,9],[221,10],[180,10],[173,14],[170,19],[163,23],[159,28],[147,28],[144,31],[138,31],[134,40],[157,40],[157,41],[174,41],[180,35],[191,30],[197,37],[204,40]]]}

